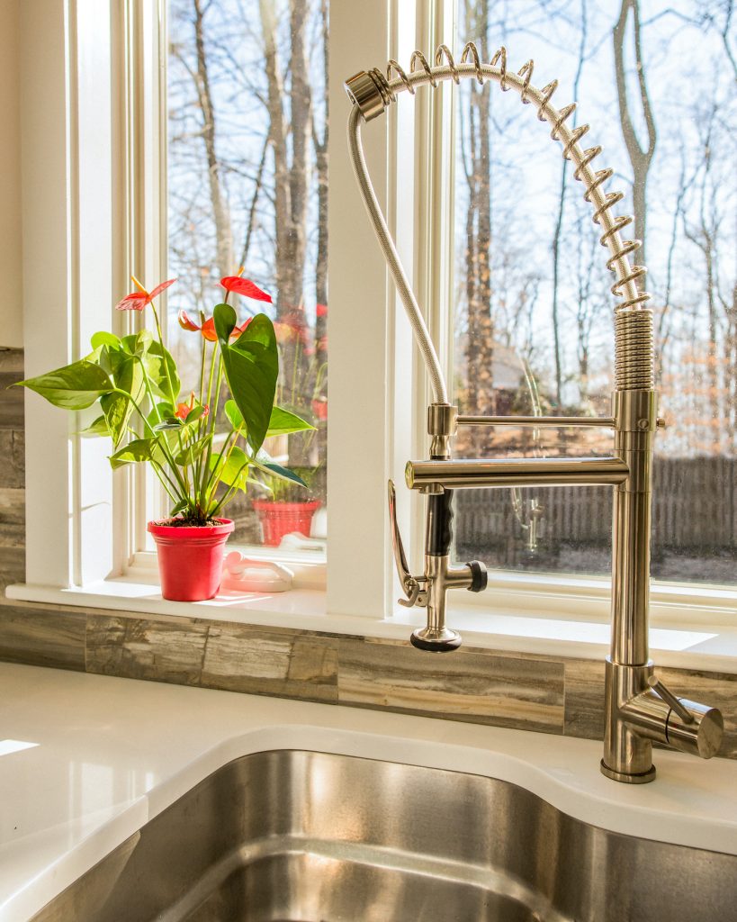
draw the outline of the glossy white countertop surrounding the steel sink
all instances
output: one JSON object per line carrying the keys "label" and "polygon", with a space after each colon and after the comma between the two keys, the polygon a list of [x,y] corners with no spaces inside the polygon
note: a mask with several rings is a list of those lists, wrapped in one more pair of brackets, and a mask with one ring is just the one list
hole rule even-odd
{"label": "glossy white countertop surrounding the steel sink", "polygon": [[308,749],[502,778],[614,832],[737,855],[737,762],[658,751],[619,785],[601,744],[0,664],[0,922],[26,920],[231,759]]}

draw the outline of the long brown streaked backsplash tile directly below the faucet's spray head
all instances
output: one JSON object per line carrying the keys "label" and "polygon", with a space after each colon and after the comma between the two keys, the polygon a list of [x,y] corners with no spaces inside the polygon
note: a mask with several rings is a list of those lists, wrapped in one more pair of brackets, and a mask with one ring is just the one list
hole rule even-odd
{"label": "long brown streaked backsplash tile directly below the faucet's spray head", "polygon": [[538,657],[342,640],[338,700],[450,720],[563,732],[563,665]]}

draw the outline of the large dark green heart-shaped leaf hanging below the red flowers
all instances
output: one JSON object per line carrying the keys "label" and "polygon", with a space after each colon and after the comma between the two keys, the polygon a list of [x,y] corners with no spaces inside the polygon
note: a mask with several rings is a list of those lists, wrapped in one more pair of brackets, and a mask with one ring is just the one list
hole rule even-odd
{"label": "large dark green heart-shaped leaf hanging below the red flowers", "polygon": [[274,325],[259,313],[231,345],[235,311],[229,304],[217,304],[213,316],[228,387],[256,452],[269,428],[279,374]]}

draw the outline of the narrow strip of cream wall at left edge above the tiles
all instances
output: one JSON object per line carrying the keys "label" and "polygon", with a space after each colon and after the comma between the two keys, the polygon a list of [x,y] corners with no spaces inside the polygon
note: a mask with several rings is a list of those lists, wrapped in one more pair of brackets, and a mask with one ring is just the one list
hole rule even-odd
{"label": "narrow strip of cream wall at left edge above the tiles", "polygon": [[[23,345],[19,7],[0,0],[0,347]],[[43,254],[39,254],[39,272]]]}

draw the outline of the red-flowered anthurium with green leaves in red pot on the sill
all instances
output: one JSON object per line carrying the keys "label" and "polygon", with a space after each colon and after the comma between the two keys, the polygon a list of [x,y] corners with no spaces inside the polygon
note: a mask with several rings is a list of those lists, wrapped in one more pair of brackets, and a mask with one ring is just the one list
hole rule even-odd
{"label": "red-flowered anthurium with green leaves in red pot on the sill", "polygon": [[[302,483],[262,453],[263,440],[312,427],[275,406],[279,360],[272,321],[256,313],[238,325],[228,304],[233,293],[271,301],[250,279],[240,274],[222,278],[227,292],[223,303],[211,317],[201,314],[199,323],[179,313],[180,325],[201,337],[199,393],[184,400],[154,304],[176,279],[150,292],[133,280],[136,290],[115,307],[144,311],[150,305],[156,335],[147,329],[124,337],[96,333],[92,351],[83,359],[20,384],[55,407],[99,408],[99,416],[82,434],[111,439],[113,470],[150,465],[170,498],[169,516],[148,523],[157,543],[162,596],[177,601],[212,598],[220,585],[223,547],[233,530],[223,512],[238,491],[247,489],[252,471],[275,481]],[[230,392],[227,399],[224,384]],[[225,432],[216,432],[218,410],[220,419],[227,420]]]}

